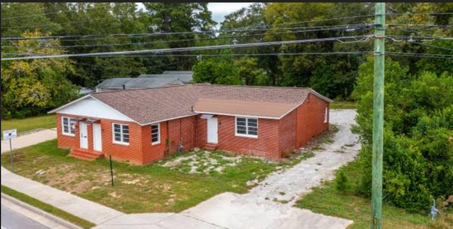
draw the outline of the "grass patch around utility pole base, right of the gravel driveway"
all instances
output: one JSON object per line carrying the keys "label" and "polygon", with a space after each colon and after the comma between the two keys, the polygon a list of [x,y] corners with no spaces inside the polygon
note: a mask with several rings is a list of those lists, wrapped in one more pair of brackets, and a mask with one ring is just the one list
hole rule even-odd
{"label": "grass patch around utility pole base, right of the gravel driveway", "polygon": [[[355,161],[344,167],[352,185],[358,185],[361,176],[361,165]],[[354,220],[348,229],[362,229],[370,226],[370,200],[353,193],[339,193],[333,181],[326,182],[323,187],[314,188],[313,192],[305,195],[297,202],[297,206],[307,208],[317,213],[338,216]],[[431,228],[428,215],[413,214],[390,206],[384,201],[382,228],[417,229]],[[448,215],[449,217],[453,215]],[[443,223],[443,222],[441,222]],[[440,223],[440,224],[441,224]],[[448,227],[433,227],[448,228]],[[451,227],[449,227],[451,228]]]}

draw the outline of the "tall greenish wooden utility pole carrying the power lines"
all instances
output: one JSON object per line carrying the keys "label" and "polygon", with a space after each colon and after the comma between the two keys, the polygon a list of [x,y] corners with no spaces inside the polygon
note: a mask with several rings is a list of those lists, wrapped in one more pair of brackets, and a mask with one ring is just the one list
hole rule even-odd
{"label": "tall greenish wooden utility pole carrying the power lines", "polygon": [[373,184],[371,228],[382,223],[382,157],[384,148],[385,3],[375,3],[374,90],[373,90]]}

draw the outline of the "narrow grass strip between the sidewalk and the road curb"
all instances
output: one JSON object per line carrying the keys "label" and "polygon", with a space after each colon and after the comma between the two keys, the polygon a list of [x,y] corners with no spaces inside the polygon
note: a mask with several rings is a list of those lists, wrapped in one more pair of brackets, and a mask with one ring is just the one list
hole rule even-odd
{"label": "narrow grass strip between the sidewalk and the road curb", "polygon": [[60,217],[62,219],[65,219],[66,221],[69,221],[69,222],[72,222],[82,228],[91,228],[93,226],[95,226],[96,224],[92,223],[92,222],[89,222],[89,221],[86,221],[82,218],[79,218],[73,214],[70,214],[66,211],[63,211],[59,208],[56,208],[52,205],[49,205],[47,203],[44,203],[44,202],[41,202],[31,196],[28,196],[28,195],[25,195],[23,193],[20,193],[16,190],[13,190],[9,187],[6,187],[6,186],[3,186],[2,185],[2,192],[9,195],[9,196],[12,196],[22,202],[25,202],[25,203],[28,203],[36,208],[39,208],[45,212],[48,212],[52,215],[55,215],[57,217]]}

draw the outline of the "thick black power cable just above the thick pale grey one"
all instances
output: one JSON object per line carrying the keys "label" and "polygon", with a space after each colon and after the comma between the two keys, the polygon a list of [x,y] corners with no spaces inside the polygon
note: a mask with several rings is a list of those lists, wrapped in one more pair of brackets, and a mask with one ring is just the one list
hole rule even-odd
{"label": "thick black power cable just above the thick pale grey one", "polygon": [[[254,36],[266,36],[266,35],[278,35],[278,34],[296,34],[296,33],[306,33],[314,31],[331,31],[331,30],[346,30],[348,32],[354,32],[357,30],[364,30],[371,28],[371,25],[345,25],[338,27],[322,27],[312,30],[296,30],[296,31],[285,31],[285,32],[276,32],[276,33],[260,33],[260,34],[246,34],[246,35],[237,35],[237,36],[221,36],[214,38],[197,38],[197,39],[178,39],[178,40],[162,40],[162,41],[149,41],[149,42],[130,42],[130,43],[110,43],[110,44],[94,44],[94,45],[69,45],[69,46],[2,46],[2,48],[81,48],[81,47],[110,47],[110,46],[127,46],[127,45],[147,45],[147,44],[156,44],[156,43],[173,43],[173,42],[186,42],[186,41],[206,41],[206,40],[219,40],[219,39],[232,39],[232,38],[243,38],[243,37],[254,37]],[[310,28],[310,27],[305,27]]]}

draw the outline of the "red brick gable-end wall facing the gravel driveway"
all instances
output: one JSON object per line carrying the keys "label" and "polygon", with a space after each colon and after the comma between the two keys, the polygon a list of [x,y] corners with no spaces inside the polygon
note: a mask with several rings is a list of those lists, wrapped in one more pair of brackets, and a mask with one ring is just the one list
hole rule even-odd
{"label": "red brick gable-end wall facing the gravel driveway", "polygon": [[314,136],[328,130],[328,116],[327,123],[324,123],[326,106],[329,106],[328,102],[310,93],[305,102],[296,109],[296,148],[302,147]]}

